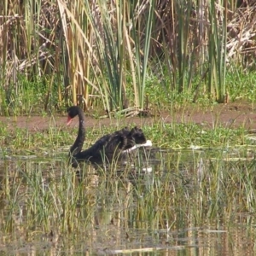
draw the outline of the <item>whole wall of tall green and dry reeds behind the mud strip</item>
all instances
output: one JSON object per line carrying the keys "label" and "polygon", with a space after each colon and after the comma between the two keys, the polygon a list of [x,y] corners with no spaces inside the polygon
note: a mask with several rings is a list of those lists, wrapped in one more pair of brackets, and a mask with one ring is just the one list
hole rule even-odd
{"label": "whole wall of tall green and dry reeds behind the mud strip", "polygon": [[[240,0],[4,1],[0,111],[254,102],[254,9]],[[247,93],[233,84],[243,74]]]}

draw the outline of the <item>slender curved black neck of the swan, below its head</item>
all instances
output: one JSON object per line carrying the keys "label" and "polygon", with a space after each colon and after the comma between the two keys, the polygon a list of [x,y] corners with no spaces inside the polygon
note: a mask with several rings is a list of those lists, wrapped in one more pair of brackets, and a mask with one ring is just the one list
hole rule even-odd
{"label": "slender curved black neck of the swan, below its head", "polygon": [[70,148],[70,154],[78,154],[81,152],[85,139],[85,120],[83,111],[79,112],[79,132],[73,146]]}

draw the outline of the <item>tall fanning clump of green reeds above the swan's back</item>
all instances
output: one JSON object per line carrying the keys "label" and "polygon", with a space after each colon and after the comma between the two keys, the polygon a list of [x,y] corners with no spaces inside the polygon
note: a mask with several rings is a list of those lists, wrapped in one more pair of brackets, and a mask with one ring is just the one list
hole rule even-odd
{"label": "tall fanning clump of green reeds above the swan's back", "polygon": [[[93,13],[88,4],[86,12],[96,36],[98,65],[93,69],[94,73],[98,71],[102,75],[100,81],[108,110],[129,107],[126,98],[129,86],[127,76],[131,76],[133,105],[143,109],[154,1],[119,1],[111,4],[99,2],[97,7],[97,11]],[[141,26],[145,22],[146,26]],[[105,82],[105,70],[108,83]]]}

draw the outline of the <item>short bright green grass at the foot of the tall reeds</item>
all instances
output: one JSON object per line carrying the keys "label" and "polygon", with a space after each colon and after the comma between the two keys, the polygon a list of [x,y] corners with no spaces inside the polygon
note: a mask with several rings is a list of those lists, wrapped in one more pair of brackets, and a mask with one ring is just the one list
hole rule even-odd
{"label": "short bright green grass at the foot of the tall reeds", "polygon": [[[256,83],[256,73],[244,72],[241,69],[230,69],[226,76],[226,87],[229,91],[228,102],[248,102],[252,104],[254,108],[255,98],[255,86]],[[192,84],[192,90],[196,90],[198,79],[194,79]],[[49,97],[48,108],[44,109],[45,97],[47,95],[47,83],[49,80],[38,79],[37,81],[30,82],[24,77],[19,79],[19,93],[16,94],[15,91],[10,91],[7,96],[7,91],[4,88],[0,89],[0,96],[2,95],[2,115],[45,115],[51,113],[61,113],[65,112],[67,105],[73,104],[72,102],[60,102],[57,96],[58,87],[52,88],[52,93]],[[162,111],[172,112],[183,108],[208,108],[218,104],[214,100],[214,97],[204,93],[197,96],[195,102],[195,95],[191,94],[189,91],[183,91],[177,93],[176,90],[171,90],[172,82],[168,77],[155,76],[154,73],[148,75],[146,79],[145,87],[145,113],[159,114]],[[132,90],[132,85],[127,84],[126,99],[129,104],[134,104],[134,92]],[[60,104],[61,103],[61,104]],[[193,107],[194,106],[194,107]],[[130,115],[134,112],[135,108],[128,108],[124,111],[115,109],[113,115],[118,116],[122,114]],[[100,98],[96,99],[93,105],[87,109],[87,113],[95,117],[100,117],[106,115],[106,108],[102,104]]]}

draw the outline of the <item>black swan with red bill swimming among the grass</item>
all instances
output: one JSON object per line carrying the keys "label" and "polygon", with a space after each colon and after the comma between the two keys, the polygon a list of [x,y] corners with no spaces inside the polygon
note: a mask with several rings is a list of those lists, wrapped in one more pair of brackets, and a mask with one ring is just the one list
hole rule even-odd
{"label": "black swan with red bill swimming among the grass", "polygon": [[70,148],[73,166],[77,166],[79,161],[90,161],[91,163],[107,163],[112,160],[119,160],[120,155],[130,153],[133,149],[152,146],[151,141],[147,141],[141,129],[137,126],[129,130],[125,127],[112,134],[105,135],[98,139],[90,148],[82,151],[85,139],[84,112],[81,108],[73,106],[67,108],[67,125],[72,119],[79,115],[79,132],[73,146]]}

